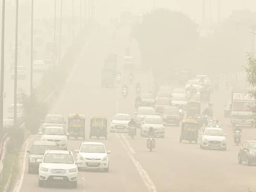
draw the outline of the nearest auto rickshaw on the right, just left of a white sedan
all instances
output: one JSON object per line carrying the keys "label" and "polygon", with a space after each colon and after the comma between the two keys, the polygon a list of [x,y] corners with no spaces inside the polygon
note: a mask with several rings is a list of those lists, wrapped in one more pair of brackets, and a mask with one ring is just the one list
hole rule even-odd
{"label": "nearest auto rickshaw on the right, just left of a white sedan", "polygon": [[197,143],[199,125],[194,119],[185,119],[182,121],[180,142],[183,140],[194,141]]}

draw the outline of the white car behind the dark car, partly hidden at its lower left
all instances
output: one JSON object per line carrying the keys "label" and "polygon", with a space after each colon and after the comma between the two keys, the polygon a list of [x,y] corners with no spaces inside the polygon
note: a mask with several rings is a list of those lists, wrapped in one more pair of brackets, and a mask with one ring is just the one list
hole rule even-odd
{"label": "white car behind the dark car, partly hidden at its lower left", "polygon": [[42,141],[53,141],[58,149],[67,150],[69,133],[66,133],[63,127],[46,127],[39,134],[42,135]]}

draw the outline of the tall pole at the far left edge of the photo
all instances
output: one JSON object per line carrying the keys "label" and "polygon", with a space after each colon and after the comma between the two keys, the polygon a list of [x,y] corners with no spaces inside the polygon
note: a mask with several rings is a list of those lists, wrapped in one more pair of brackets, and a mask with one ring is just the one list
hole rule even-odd
{"label": "tall pole at the far left edge of the photo", "polygon": [[3,138],[3,105],[4,105],[4,21],[5,21],[5,0],[2,3],[2,34],[1,34],[1,85],[0,85],[0,141]]}

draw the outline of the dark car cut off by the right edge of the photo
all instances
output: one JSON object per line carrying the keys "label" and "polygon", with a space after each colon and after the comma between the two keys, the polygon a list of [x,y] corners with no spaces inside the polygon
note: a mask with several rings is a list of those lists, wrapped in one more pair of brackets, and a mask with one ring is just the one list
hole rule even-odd
{"label": "dark car cut off by the right edge of the photo", "polygon": [[244,141],[239,149],[238,163],[241,164],[243,161],[249,166],[252,163],[256,164],[256,139]]}

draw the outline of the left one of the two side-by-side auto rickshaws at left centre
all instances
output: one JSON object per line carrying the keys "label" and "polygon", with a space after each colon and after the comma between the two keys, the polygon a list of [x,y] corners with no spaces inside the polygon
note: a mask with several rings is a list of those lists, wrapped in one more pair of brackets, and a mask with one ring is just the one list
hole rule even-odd
{"label": "left one of the two side-by-side auto rickshaws at left centre", "polygon": [[68,116],[68,131],[69,138],[78,139],[82,137],[85,139],[85,115],[70,114]]}

